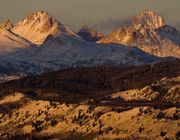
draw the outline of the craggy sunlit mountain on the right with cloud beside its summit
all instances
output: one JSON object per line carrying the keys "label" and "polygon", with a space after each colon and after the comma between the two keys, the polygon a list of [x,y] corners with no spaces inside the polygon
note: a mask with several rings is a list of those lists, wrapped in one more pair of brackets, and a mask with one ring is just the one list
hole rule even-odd
{"label": "craggy sunlit mountain on the right with cloud beside its summit", "polygon": [[115,29],[98,43],[137,46],[149,54],[180,58],[179,32],[166,25],[162,17],[145,10],[131,20],[132,24]]}

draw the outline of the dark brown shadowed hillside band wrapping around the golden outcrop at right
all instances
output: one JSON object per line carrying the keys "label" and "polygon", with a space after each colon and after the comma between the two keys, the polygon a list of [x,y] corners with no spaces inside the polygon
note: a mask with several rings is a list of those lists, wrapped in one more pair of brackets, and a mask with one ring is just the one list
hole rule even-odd
{"label": "dark brown shadowed hillside band wrapping around the golden outcrop at right", "polygon": [[[153,102],[113,100],[107,95],[143,88],[164,77],[180,75],[180,61],[166,61],[136,67],[91,67],[60,70],[39,76],[21,78],[0,84],[0,97],[22,92],[34,100],[57,101],[66,104],[87,103],[102,106],[178,106]],[[157,88],[164,96],[166,89]]]}

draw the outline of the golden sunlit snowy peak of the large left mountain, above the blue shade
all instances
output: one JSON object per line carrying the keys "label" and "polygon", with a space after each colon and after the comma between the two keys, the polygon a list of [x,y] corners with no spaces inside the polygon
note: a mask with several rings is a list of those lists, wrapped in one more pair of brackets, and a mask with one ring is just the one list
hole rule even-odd
{"label": "golden sunlit snowy peak of the large left mountain, above the blue shade", "polygon": [[44,11],[34,12],[24,20],[18,22],[12,28],[12,32],[34,44],[42,44],[48,35],[54,35],[56,33],[77,36],[71,29]]}

